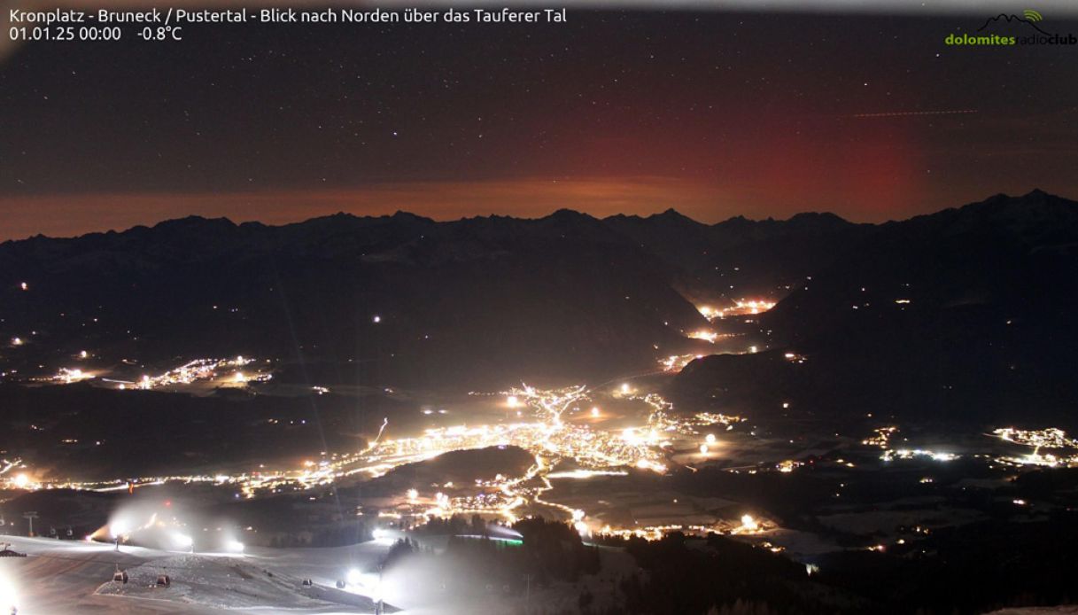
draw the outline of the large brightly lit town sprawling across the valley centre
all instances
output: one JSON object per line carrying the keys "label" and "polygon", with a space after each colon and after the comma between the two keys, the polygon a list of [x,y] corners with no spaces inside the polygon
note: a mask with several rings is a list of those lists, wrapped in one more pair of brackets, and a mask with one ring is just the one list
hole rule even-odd
{"label": "large brightly lit town sprawling across the valley centre", "polygon": [[[193,361],[183,368],[150,379],[148,386],[188,384],[213,378],[222,368],[237,368],[249,361]],[[669,468],[669,455],[675,451],[693,451],[707,459],[720,446],[710,427],[720,432],[732,429],[744,421],[740,416],[700,412],[679,416],[673,406],[654,393],[639,393],[624,384],[607,392],[591,391],[584,386],[559,390],[538,390],[531,386],[511,388],[501,394],[505,406],[519,410],[520,422],[485,425],[456,425],[429,428],[416,437],[391,438],[379,435],[362,451],[342,454],[323,453],[291,469],[258,469],[240,474],[149,476],[132,479],[113,479],[94,482],[47,481],[30,478],[22,460],[6,463],[0,472],[11,488],[18,489],[77,489],[99,492],[135,490],[169,483],[203,483],[231,487],[245,498],[259,495],[312,490],[356,478],[371,479],[384,476],[393,468],[419,463],[451,451],[475,450],[488,447],[519,447],[534,455],[534,464],[523,476],[498,475],[492,481],[476,480],[470,486],[446,489],[443,492],[407,494],[393,518],[410,519],[410,527],[431,518],[480,514],[513,522],[523,515],[543,510],[563,515],[583,533],[610,535],[639,535],[653,537],[663,532],[654,527],[611,528],[596,527],[585,510],[547,500],[543,495],[553,489],[551,479],[586,479],[596,476],[624,476],[628,469],[664,474]],[[593,396],[608,395],[623,402],[637,402],[647,409],[635,426],[606,429],[591,425],[604,420],[604,411],[592,404]],[[384,426],[385,427],[385,426]],[[576,469],[558,472],[570,464]],[[779,472],[790,472],[792,465],[776,466]],[[668,530],[675,527],[671,525]],[[679,528],[679,527],[678,527]],[[725,521],[708,531],[729,532],[736,529]],[[745,528],[738,530],[748,531]]]}

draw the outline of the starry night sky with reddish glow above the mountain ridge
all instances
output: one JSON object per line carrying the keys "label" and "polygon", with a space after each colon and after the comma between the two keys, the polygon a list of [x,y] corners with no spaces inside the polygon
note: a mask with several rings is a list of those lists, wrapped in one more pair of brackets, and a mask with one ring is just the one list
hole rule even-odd
{"label": "starry night sky with reddish glow above the mountain ridge", "polygon": [[189,214],[880,221],[1078,196],[1078,45],[943,43],[984,17],[570,9],[29,43],[0,60],[0,238]]}

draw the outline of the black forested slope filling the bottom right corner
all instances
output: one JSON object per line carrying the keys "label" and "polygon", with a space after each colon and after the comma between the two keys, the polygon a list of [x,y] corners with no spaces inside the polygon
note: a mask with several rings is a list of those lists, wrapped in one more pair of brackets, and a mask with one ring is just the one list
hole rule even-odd
{"label": "black forested slope filling the bottom right corner", "polygon": [[[649,615],[973,615],[1078,600],[1078,515],[997,519],[934,532],[886,552],[844,550],[819,572],[722,536],[624,543],[640,574],[609,613]],[[588,612],[581,599],[581,612]]]}

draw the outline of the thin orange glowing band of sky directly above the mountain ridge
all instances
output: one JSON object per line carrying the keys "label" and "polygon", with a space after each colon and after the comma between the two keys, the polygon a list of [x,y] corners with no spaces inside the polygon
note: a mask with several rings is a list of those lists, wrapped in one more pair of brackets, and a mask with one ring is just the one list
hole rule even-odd
{"label": "thin orange glowing band of sky directly above the mountain ridge", "polygon": [[[239,223],[300,222],[340,211],[384,216],[409,211],[434,220],[502,215],[541,218],[568,208],[596,218],[617,214],[649,216],[669,208],[704,223],[744,215],[754,219],[788,218],[803,210],[829,209],[857,221],[865,210],[833,194],[820,206],[793,197],[761,200],[758,187],[665,176],[524,177],[475,181],[386,182],[368,187],[246,192],[141,192],[33,194],[0,196],[4,233],[0,241],[38,234],[69,237],[123,231],[136,226],[203,216]],[[766,203],[766,209],[763,204]],[[882,221],[885,219],[873,211]]]}

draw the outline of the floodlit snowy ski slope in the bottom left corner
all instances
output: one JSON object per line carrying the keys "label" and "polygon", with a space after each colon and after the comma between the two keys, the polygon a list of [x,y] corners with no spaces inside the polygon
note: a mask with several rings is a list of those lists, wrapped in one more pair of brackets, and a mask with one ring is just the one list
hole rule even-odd
{"label": "floodlit snowy ski slope in the bottom left corner", "polygon": [[[359,573],[389,546],[376,541],[335,549],[192,555],[127,546],[118,552],[111,545],[51,538],[0,536],[0,542],[27,554],[0,558],[0,613],[17,606],[19,615],[372,613],[377,577]],[[112,580],[118,568],[127,571],[127,584]],[[170,577],[170,587],[155,585],[160,574]],[[304,578],[315,585],[303,587]],[[338,579],[353,583],[338,590]]]}

